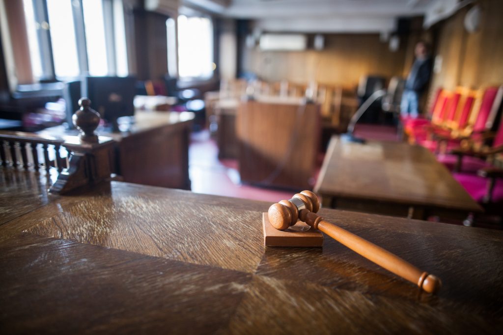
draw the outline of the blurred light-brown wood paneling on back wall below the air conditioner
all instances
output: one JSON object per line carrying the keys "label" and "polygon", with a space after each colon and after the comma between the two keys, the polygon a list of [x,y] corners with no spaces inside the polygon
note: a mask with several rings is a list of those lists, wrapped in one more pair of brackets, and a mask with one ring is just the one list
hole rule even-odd
{"label": "blurred light-brown wood paneling on back wall below the air conditioner", "polygon": [[[402,43],[404,44],[404,43]],[[363,75],[402,75],[405,46],[396,52],[377,34],[325,35],[325,49],[263,52],[246,49],[245,69],[268,81],[287,79],[355,87]]]}

